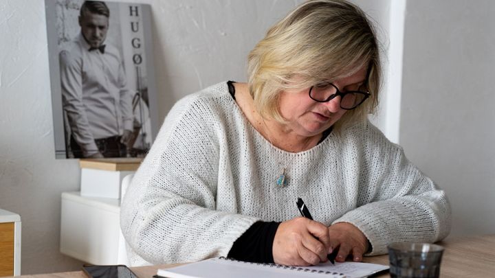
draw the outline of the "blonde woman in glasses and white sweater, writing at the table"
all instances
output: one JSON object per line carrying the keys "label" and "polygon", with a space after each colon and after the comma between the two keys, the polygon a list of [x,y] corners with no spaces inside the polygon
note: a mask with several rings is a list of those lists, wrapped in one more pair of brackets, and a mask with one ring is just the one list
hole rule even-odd
{"label": "blonde woman in glasses and white sweater, writing at the table", "polygon": [[[133,264],[230,256],[307,266],[448,235],[443,191],[369,123],[380,58],[364,13],[307,1],[249,56],[248,83],[184,97],[122,203]],[[301,218],[303,198],[314,220]]]}

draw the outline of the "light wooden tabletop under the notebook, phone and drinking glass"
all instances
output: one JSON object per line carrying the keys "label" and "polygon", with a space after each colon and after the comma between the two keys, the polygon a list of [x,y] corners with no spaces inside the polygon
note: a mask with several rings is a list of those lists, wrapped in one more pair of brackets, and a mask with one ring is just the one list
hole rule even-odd
{"label": "light wooden tabletop under the notebook, phone and drinking glass", "polygon": [[[479,235],[474,237],[448,238],[437,244],[445,247],[443,253],[440,277],[495,277],[495,235]],[[364,257],[364,262],[388,264],[388,255]],[[140,278],[150,278],[157,273],[158,268],[170,268],[179,264],[164,264],[158,266],[140,266],[131,268]],[[378,277],[389,277],[380,275]],[[67,273],[49,273],[39,275],[22,275],[32,278],[87,278],[83,271]]]}

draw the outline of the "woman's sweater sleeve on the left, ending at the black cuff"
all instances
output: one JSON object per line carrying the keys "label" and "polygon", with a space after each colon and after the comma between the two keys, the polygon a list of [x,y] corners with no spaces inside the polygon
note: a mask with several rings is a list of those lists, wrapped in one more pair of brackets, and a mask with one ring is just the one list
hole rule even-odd
{"label": "woman's sweater sleeve on the left, ending at the black cuff", "polygon": [[217,198],[233,195],[217,192],[224,150],[207,102],[193,95],[177,102],[122,201],[124,238],[152,264],[227,256],[258,220],[217,208]]}

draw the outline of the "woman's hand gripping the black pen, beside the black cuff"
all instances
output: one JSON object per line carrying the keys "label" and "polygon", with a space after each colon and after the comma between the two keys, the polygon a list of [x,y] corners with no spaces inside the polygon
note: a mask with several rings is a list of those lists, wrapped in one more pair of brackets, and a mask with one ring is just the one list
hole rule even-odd
{"label": "woman's hand gripping the black pen, beside the black cuff", "polygon": [[310,266],[327,262],[328,228],[307,218],[294,218],[278,225],[272,253],[276,264]]}

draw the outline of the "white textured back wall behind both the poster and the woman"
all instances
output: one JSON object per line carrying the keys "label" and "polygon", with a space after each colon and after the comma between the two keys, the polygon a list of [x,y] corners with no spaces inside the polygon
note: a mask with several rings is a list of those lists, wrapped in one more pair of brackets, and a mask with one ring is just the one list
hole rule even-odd
{"label": "white textured back wall behind both the poster and the woman", "polygon": [[[383,23],[385,40],[389,1],[355,1]],[[248,51],[302,0],[133,2],[152,5],[163,119],[188,93],[221,80],[244,81]],[[1,0],[0,38],[0,207],[21,215],[21,271],[77,270],[82,262],[58,251],[61,192],[79,188],[80,170],[75,159],[54,159],[43,1]]]}

